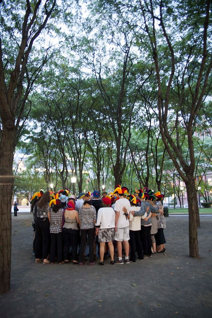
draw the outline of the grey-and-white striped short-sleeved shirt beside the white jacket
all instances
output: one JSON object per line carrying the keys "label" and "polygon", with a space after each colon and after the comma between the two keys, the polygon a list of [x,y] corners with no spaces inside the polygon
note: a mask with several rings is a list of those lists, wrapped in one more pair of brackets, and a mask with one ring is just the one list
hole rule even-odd
{"label": "grey-and-white striped short-sleeved shirt beside the white jacket", "polygon": [[79,209],[79,220],[81,221],[80,229],[91,229],[96,221],[96,210],[93,206],[89,208],[81,207]]}

